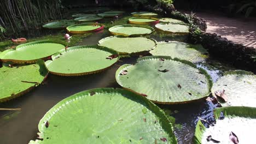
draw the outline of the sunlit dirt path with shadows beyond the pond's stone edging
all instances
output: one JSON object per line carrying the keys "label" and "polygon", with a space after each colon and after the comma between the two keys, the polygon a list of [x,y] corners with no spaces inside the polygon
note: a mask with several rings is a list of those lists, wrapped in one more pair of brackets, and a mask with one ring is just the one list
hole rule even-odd
{"label": "sunlit dirt path with shadows beyond the pond's stone edging", "polygon": [[210,13],[196,13],[207,21],[207,31],[235,43],[256,48],[256,18],[234,18]]}

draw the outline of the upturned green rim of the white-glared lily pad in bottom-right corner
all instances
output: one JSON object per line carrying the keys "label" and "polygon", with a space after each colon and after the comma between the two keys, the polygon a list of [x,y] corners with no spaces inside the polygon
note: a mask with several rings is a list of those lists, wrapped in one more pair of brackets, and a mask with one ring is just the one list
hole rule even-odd
{"label": "upturned green rim of the white-glared lily pad in bottom-right corner", "polygon": [[[218,121],[220,112],[223,112],[225,117],[248,117],[248,118],[256,118],[256,107],[246,107],[246,106],[227,106],[227,107],[219,107],[214,109],[214,117]],[[200,127],[202,130],[200,130]],[[201,144],[203,132],[207,128],[202,124],[199,120],[196,124],[195,135],[193,142],[194,144]]]}

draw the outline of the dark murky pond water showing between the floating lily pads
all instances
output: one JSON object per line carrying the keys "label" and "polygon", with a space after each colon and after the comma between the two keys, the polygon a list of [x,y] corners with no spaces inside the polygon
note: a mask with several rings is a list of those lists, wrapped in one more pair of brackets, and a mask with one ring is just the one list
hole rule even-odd
{"label": "dark murky pond water showing between the floating lily pads", "polygon": [[[104,20],[103,23],[109,25],[110,21],[112,19]],[[86,37],[78,45],[95,45],[98,40],[109,35],[107,29],[104,29],[101,33]],[[154,32],[150,37],[157,41],[185,40],[184,37],[174,37],[160,32]],[[98,74],[79,77],[61,77],[49,74],[44,85],[40,85],[20,98],[1,103],[0,108],[21,108],[22,110],[0,111],[0,143],[28,143],[30,140],[36,139],[37,125],[44,113],[72,94],[92,88],[120,87],[115,81],[115,71],[119,68],[119,65],[136,63],[137,58],[121,58],[121,61],[113,67]],[[208,71],[213,81],[216,81],[224,70],[233,69],[226,65],[212,57],[207,62],[197,64],[198,67]],[[190,104],[159,106],[166,111],[168,116],[176,119],[174,133],[179,143],[191,143],[198,117],[211,118],[212,111],[217,105],[206,100],[199,100]]]}

